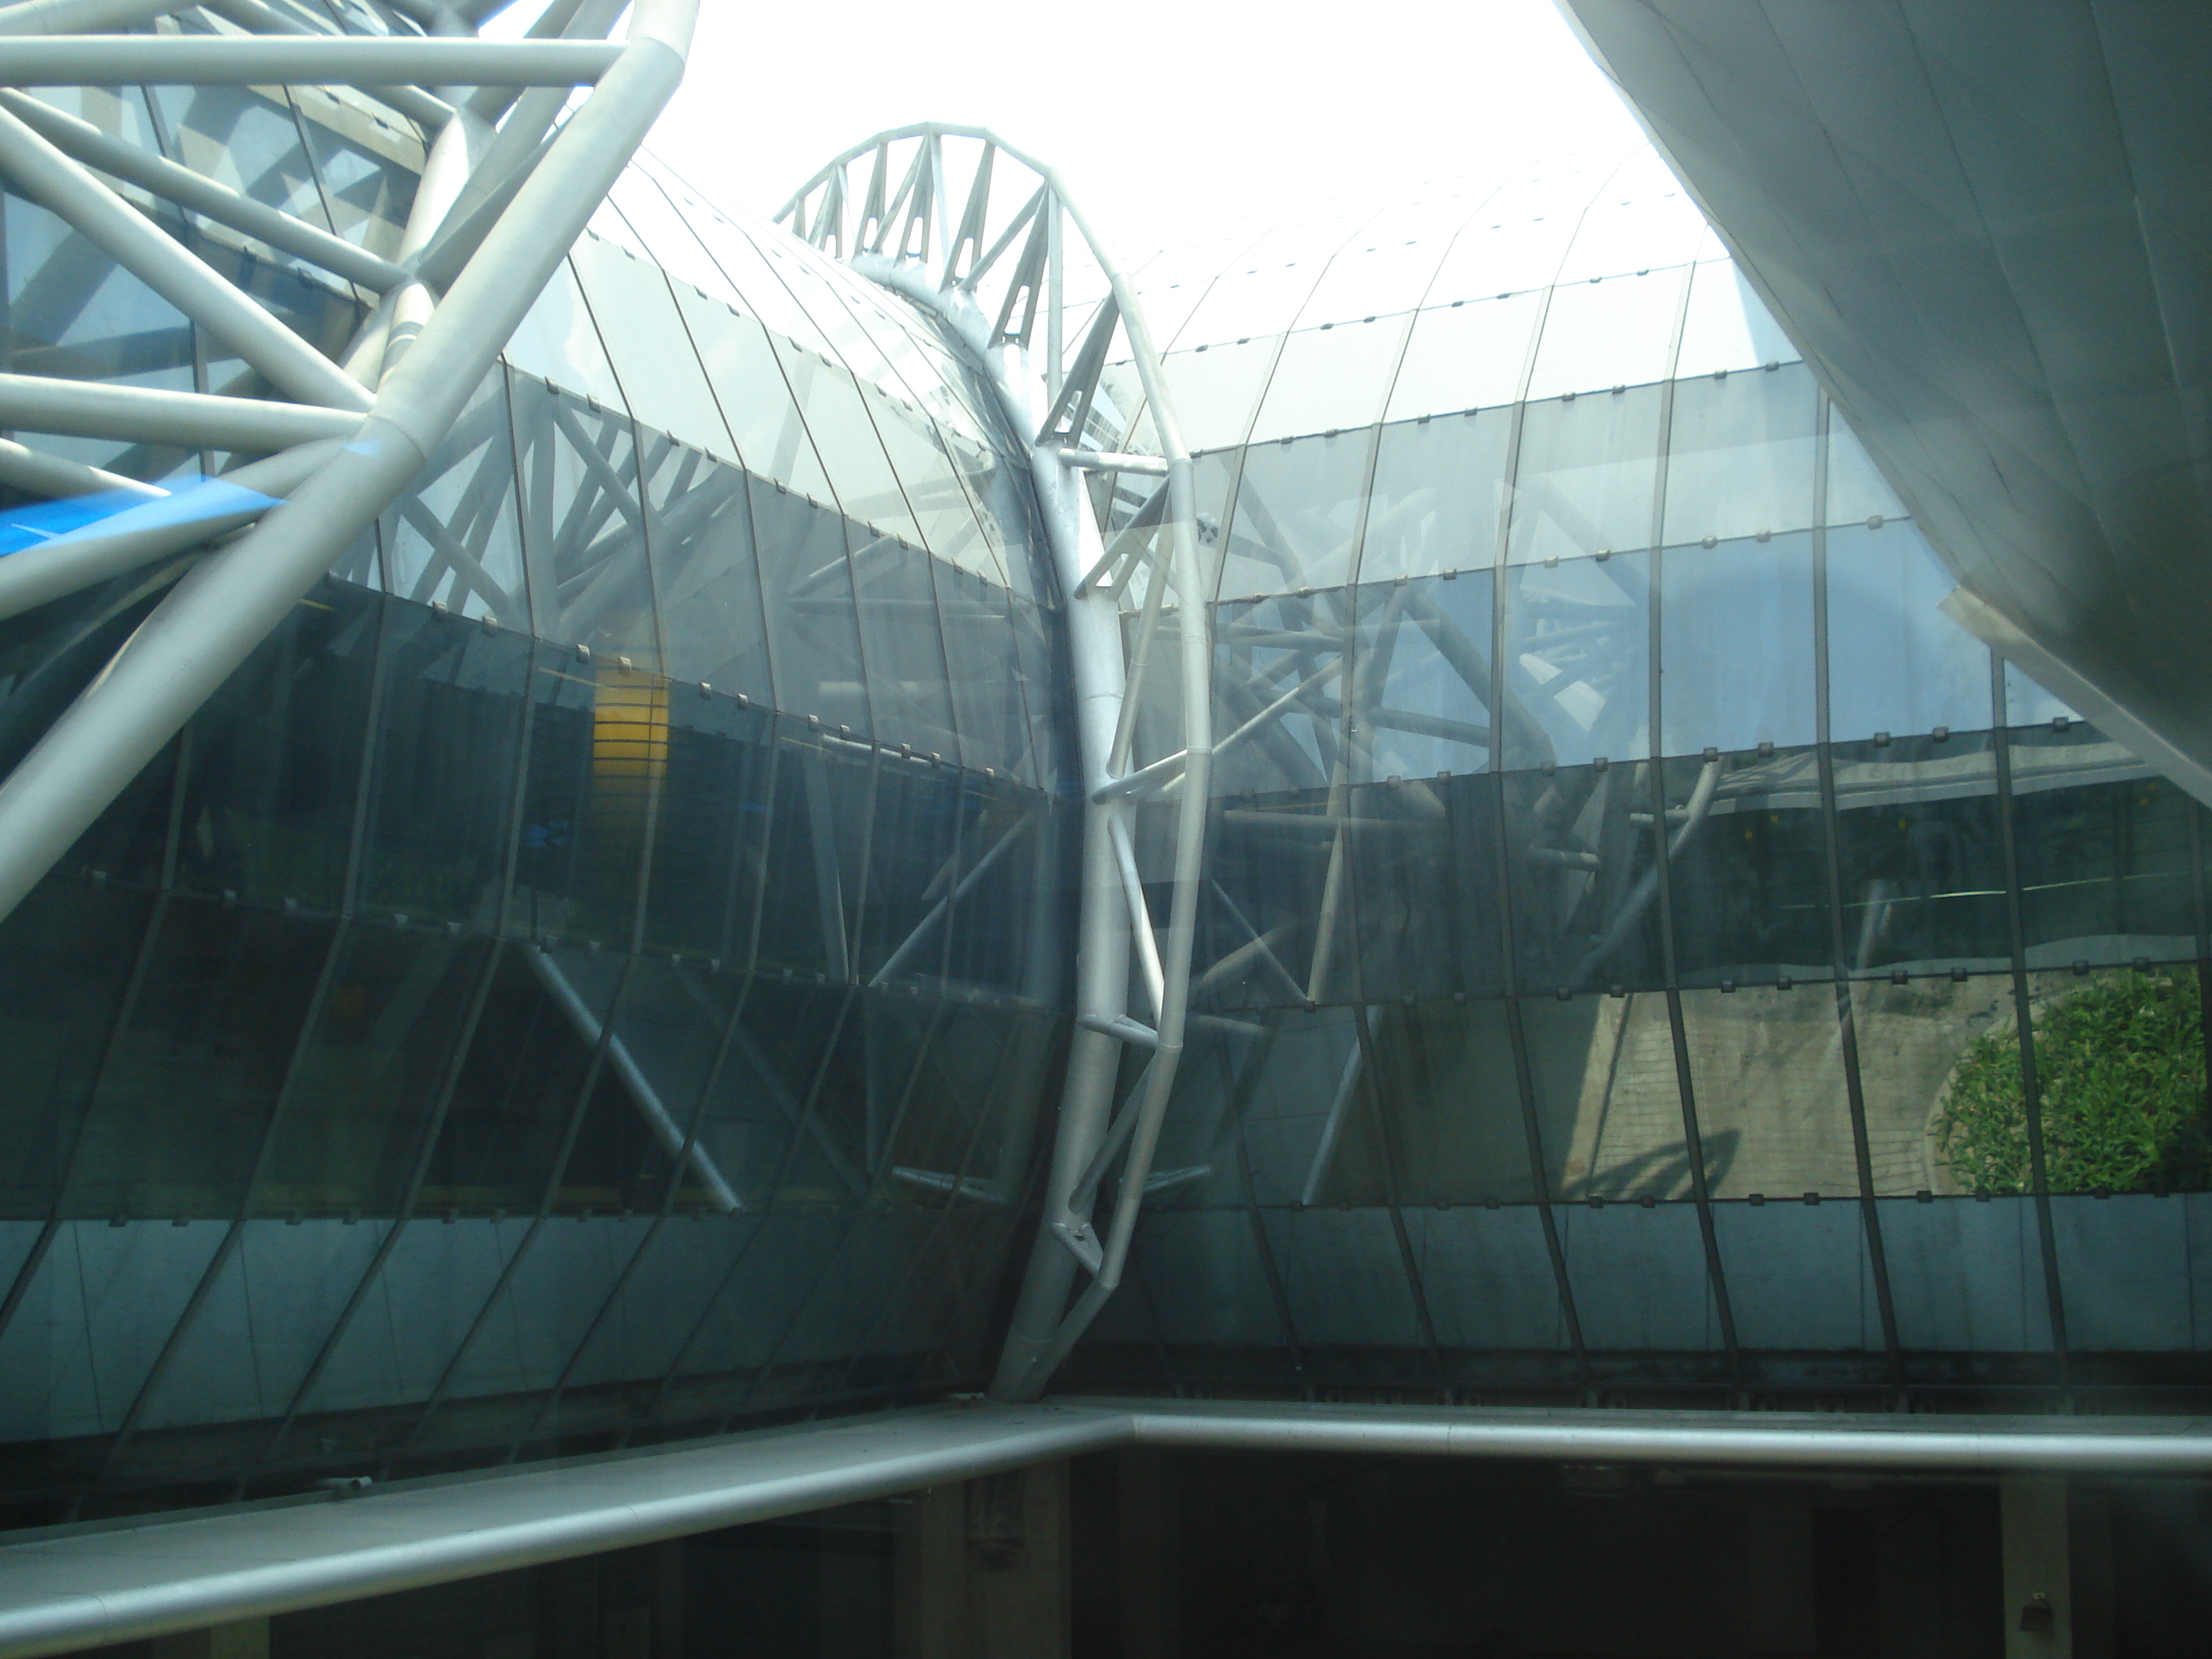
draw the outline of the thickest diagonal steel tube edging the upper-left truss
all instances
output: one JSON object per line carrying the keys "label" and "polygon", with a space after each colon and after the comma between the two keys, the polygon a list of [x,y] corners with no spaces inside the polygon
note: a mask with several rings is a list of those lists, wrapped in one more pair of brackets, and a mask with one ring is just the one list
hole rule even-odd
{"label": "thickest diagonal steel tube edging the upper-left truss", "polygon": [[[414,482],[681,82],[695,22],[697,0],[639,0],[613,69],[453,279],[418,347],[383,378],[358,436],[292,500],[186,575],[0,785],[0,916],[15,909],[354,538]],[[115,60],[102,60],[102,80],[135,77]],[[0,115],[0,122],[13,117]],[[358,383],[347,385],[361,394]]]}

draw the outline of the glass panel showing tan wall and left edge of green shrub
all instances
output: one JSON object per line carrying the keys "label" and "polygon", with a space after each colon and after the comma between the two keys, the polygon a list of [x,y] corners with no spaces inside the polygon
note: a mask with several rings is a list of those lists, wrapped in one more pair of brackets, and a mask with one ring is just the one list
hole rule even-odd
{"label": "glass panel showing tan wall and left edge of green shrub", "polygon": [[[2020,1033],[2011,975],[1858,982],[1851,987],[1851,1026],[1867,1099],[1874,1190],[1973,1192],[1980,1141],[1947,1130],[1944,1117],[1951,1108],[1973,1115],[1966,1095],[2002,1097],[2008,1088],[2017,1099]],[[1991,1146],[2006,1135],[2002,1119],[2000,1108]]]}

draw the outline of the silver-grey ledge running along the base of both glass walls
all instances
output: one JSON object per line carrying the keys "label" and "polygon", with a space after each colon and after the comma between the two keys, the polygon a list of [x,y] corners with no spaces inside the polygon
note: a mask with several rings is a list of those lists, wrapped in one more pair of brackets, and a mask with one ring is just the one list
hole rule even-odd
{"label": "silver-grey ledge running along the base of both glass walls", "polygon": [[2212,1473],[2212,1420],[947,1405],[0,1546],[0,1659],[571,1559],[1121,1444],[1893,1473]]}

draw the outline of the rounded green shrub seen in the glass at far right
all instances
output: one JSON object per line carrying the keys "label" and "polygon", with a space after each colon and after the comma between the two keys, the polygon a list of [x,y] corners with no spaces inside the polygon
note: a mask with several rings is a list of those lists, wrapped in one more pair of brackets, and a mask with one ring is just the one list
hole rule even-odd
{"label": "rounded green shrub seen in the glass at far right", "polygon": [[[2212,1177],[2194,969],[2108,973],[2035,1015],[2053,1192],[2194,1188]],[[2017,1033],[1966,1044],[1936,1119],[1969,1192],[2028,1192]]]}

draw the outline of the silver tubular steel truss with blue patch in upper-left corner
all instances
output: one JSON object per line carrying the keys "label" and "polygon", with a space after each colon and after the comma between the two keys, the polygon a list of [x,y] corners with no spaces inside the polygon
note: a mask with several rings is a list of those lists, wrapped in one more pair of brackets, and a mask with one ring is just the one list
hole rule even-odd
{"label": "silver tubular steel truss with blue patch in upper-left corner", "polygon": [[[261,453],[173,493],[0,445],[0,482],[142,498],[0,560],[0,617],[212,551],[0,783],[0,916],[177,734],[420,471],[684,77],[699,0],[553,0],[522,40],[476,38],[504,0],[398,0],[425,35],[323,35],[261,0],[204,0],[212,33],[139,24],[177,0],[0,7],[0,173],[168,299],[283,398],[0,376],[0,425]],[[378,259],[122,144],[27,86],[347,86],[429,146],[405,237]],[[568,111],[575,88],[591,93]],[[562,115],[566,113],[566,119]],[[378,294],[341,358],[270,314],[124,195],[148,192]],[[281,509],[281,511],[279,511]],[[219,540],[228,538],[228,540]]]}

